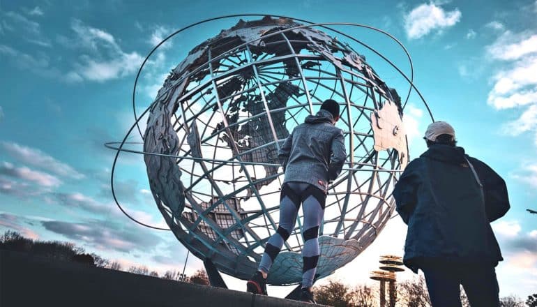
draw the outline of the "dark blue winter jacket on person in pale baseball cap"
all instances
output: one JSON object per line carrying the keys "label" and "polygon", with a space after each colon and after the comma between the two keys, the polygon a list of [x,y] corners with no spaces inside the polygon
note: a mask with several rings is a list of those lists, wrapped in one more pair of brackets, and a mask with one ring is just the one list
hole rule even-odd
{"label": "dark blue winter jacket on person in pale baseball cap", "polygon": [[393,196],[408,225],[403,261],[413,271],[428,263],[503,260],[490,222],[510,207],[505,181],[462,147],[432,145],[407,165]]}

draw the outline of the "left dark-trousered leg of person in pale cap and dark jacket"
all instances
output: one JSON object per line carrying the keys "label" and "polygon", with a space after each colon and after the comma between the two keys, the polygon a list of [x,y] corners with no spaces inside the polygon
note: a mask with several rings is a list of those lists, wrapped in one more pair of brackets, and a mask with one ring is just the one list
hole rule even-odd
{"label": "left dark-trousered leg of person in pale cap and dark jacket", "polygon": [[428,264],[422,269],[432,307],[462,307],[458,269],[448,265]]}

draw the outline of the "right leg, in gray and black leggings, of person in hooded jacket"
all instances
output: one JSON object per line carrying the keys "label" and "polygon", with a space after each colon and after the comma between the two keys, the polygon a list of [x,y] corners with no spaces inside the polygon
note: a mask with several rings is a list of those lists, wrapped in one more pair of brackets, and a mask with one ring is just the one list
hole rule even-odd
{"label": "right leg, in gray and black leggings, of person in hooded jacket", "polygon": [[302,201],[304,212],[302,287],[309,289],[313,285],[319,261],[319,225],[321,225],[324,216],[326,194],[321,189],[308,185],[302,195]]}

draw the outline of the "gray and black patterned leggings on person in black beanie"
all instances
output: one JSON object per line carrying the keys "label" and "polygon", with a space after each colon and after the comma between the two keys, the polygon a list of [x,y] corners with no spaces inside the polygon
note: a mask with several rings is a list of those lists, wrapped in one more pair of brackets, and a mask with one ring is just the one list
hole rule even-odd
{"label": "gray and black patterned leggings on person in black beanie", "polygon": [[267,241],[265,253],[259,263],[259,270],[269,272],[283,243],[289,238],[294,228],[296,214],[303,204],[304,213],[302,249],[302,287],[311,287],[319,261],[319,225],[324,215],[326,194],[320,188],[303,182],[287,182],[280,193],[280,225]]}

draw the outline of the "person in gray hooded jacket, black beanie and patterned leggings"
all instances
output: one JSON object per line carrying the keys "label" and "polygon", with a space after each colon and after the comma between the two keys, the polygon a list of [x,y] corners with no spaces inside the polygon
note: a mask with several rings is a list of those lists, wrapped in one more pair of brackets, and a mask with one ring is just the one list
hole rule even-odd
{"label": "person in gray hooded jacket, black beanie and patterned leggings", "polygon": [[289,234],[303,205],[302,301],[313,301],[311,287],[319,260],[319,225],[324,216],[328,184],[340,174],[347,153],[343,132],[335,127],[340,106],[325,100],[317,114],[306,117],[280,147],[278,158],[285,179],[280,193],[280,225],[267,241],[257,272],[248,280],[247,290],[266,295],[266,276]]}

